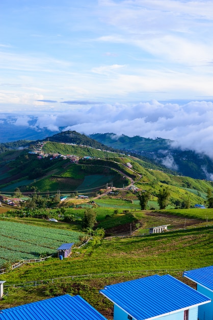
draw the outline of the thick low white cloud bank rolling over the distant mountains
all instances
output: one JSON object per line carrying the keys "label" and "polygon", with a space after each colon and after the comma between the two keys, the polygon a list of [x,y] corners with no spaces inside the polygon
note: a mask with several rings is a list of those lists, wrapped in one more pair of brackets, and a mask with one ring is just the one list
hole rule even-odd
{"label": "thick low white cloud bank rolling over the distant mountains", "polygon": [[[2,121],[7,117],[3,116]],[[190,149],[209,155],[213,159],[213,103],[191,101],[189,103],[159,103],[156,100],[138,104],[100,104],[84,106],[84,109],[67,107],[67,111],[48,113],[34,117],[15,117],[15,125],[29,125],[51,131],[76,130],[81,133],[140,135],[155,139],[161,137],[173,141],[175,147]],[[0,117],[1,120],[1,117]],[[172,159],[167,159],[171,166]]]}

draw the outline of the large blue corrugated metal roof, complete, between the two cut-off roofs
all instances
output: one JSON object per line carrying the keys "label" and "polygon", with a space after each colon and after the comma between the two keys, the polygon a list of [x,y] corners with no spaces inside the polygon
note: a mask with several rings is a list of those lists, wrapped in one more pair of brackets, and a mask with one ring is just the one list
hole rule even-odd
{"label": "large blue corrugated metal roof, complete, between the two cut-off roofs", "polygon": [[210,302],[206,296],[170,275],[106,286],[100,293],[136,320],[155,319]]}

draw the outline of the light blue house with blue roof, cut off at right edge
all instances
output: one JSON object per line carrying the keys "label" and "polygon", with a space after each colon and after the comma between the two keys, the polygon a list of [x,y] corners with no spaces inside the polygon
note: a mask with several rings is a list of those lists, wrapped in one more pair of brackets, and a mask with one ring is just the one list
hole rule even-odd
{"label": "light blue house with blue roof, cut off at right edge", "polygon": [[197,291],[211,299],[211,303],[198,308],[199,320],[213,319],[213,265],[183,272],[183,277],[197,284]]}

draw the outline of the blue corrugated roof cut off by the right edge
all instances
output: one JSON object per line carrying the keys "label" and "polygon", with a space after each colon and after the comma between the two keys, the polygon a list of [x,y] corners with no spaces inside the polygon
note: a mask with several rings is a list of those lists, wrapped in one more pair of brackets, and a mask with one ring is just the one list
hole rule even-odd
{"label": "blue corrugated roof cut off by the right edge", "polygon": [[185,271],[183,277],[213,291],[213,266]]}

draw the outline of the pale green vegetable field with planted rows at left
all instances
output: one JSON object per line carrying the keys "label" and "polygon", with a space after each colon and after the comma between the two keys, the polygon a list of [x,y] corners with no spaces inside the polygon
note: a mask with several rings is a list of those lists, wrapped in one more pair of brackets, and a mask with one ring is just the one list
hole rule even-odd
{"label": "pale green vegetable field with planted rows at left", "polygon": [[0,267],[7,262],[54,254],[62,243],[77,242],[79,232],[0,221]]}

